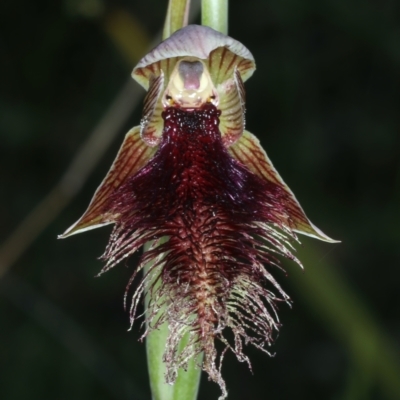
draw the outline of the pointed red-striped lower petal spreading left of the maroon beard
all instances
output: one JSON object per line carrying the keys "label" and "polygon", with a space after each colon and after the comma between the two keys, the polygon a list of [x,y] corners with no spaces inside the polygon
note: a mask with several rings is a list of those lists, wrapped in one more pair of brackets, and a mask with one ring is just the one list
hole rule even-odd
{"label": "pointed red-striped lower petal spreading left of the maroon beard", "polygon": [[125,136],[110,171],[94,194],[88,209],[59,237],[65,238],[114,223],[117,215],[111,211],[110,195],[147,164],[155,152],[155,148],[147,146],[141,139],[140,127],[132,128]]}

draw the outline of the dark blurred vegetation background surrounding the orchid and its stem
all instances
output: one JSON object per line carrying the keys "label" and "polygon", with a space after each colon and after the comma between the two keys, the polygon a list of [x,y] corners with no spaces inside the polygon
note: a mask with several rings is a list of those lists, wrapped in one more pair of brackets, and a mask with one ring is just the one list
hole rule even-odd
{"label": "dark blurred vegetation background surrounding the orchid and its stem", "polygon": [[[150,399],[140,324],[127,332],[122,305],[135,259],[94,279],[110,227],[56,236],[139,123],[144,92],[127,80],[166,8],[0,3],[1,399]],[[258,67],[248,129],[342,240],[302,240],[305,272],[277,277],[293,308],[280,307],[276,356],[249,348],[254,375],[227,356],[229,399],[400,399],[400,2],[231,0],[229,21]],[[96,127],[100,149],[64,175]],[[218,395],[204,378],[199,399]]]}

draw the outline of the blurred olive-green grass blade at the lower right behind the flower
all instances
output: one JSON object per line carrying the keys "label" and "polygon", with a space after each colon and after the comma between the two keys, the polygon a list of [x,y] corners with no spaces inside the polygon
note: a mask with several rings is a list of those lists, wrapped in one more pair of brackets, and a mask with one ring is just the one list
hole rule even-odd
{"label": "blurred olive-green grass blade at the lower right behind the flower", "polygon": [[378,383],[388,398],[400,399],[399,357],[377,319],[315,245],[307,241],[299,258],[304,272],[289,267],[299,297],[345,345],[358,374]]}

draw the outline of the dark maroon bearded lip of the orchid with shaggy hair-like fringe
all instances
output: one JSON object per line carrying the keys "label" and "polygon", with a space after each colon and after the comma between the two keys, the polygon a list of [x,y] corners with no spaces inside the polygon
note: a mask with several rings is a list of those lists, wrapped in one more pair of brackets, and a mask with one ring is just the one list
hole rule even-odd
{"label": "dark maroon bearded lip of the orchid with shaggy hair-like fringe", "polygon": [[[295,235],[287,193],[229,154],[221,140],[219,115],[211,104],[195,111],[164,111],[157,153],[111,197],[111,209],[119,217],[103,258],[109,269],[144,243],[159,243],[144,253],[140,266],[152,261],[154,271],[158,268],[161,285],[153,301],[162,302],[169,312],[156,321],[154,306],[147,322],[152,328],[164,321],[187,324],[195,334],[190,354],[204,351],[202,368],[225,392],[215,363],[215,338],[241,361],[248,361],[242,340],[260,348],[272,341],[279,299],[265,287],[275,286],[281,300],[288,297],[264,265],[277,266],[276,254],[294,259],[287,246]],[[160,244],[163,237],[168,240]],[[154,289],[143,283],[148,277],[134,295],[132,321],[138,293]],[[222,335],[225,327],[233,331],[233,345]],[[170,335],[179,331],[174,329],[171,325]],[[164,355],[170,382],[177,367],[187,362],[177,355],[179,337],[168,339]]]}

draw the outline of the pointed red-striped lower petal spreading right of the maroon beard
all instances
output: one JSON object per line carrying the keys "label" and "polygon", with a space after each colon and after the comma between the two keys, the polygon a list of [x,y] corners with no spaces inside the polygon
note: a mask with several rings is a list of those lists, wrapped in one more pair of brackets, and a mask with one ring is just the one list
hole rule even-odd
{"label": "pointed red-striped lower petal spreading right of the maroon beard", "polygon": [[306,216],[293,192],[278,174],[272,165],[267,153],[260,145],[260,141],[250,132],[244,131],[242,137],[231,147],[228,148],[230,154],[250,171],[267,181],[278,184],[289,195],[286,204],[288,214],[292,221],[289,221],[290,228],[303,235],[311,236],[325,242],[337,243],[317,228]]}

